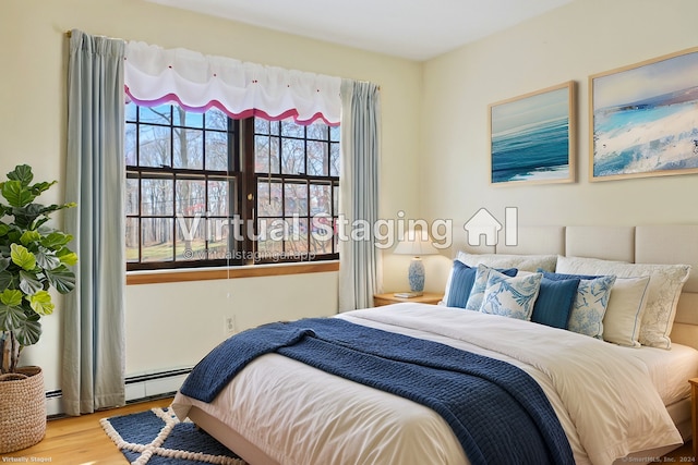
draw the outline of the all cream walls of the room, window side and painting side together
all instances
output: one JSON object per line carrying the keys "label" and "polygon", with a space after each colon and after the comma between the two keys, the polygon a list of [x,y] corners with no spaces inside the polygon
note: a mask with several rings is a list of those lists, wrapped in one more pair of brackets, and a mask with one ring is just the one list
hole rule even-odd
{"label": "all cream walls of the room, window side and painting side together", "polygon": [[[576,0],[423,64],[142,0],[3,0],[0,13],[2,173],[27,162],[37,179],[64,179],[64,32],[80,28],[380,84],[381,217],[453,219],[454,249],[481,207],[495,216],[518,207],[521,224],[698,223],[696,175],[590,183],[587,169],[588,76],[697,46],[695,0]],[[577,182],[490,186],[488,105],[569,79],[578,83]],[[45,197],[60,201],[62,191]],[[428,290],[443,289],[450,254],[424,258]],[[385,289],[405,289],[409,257],[384,258]],[[191,365],[222,339],[230,309],[243,329],[332,314],[336,299],[336,273],[129,286],[127,374]],[[47,390],[60,389],[60,305],[57,314],[24,354],[45,367]]]}

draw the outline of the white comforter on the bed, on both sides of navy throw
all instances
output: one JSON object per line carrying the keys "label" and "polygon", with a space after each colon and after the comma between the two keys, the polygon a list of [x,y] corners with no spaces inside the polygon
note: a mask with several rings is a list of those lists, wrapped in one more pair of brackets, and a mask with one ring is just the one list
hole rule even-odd
{"label": "white comforter on the bed, on both sides of navy throw", "polygon": [[[545,391],[578,464],[679,444],[647,367],[613,344],[545,326],[423,304],[342,314],[374,328],[430,339],[509,362]],[[270,354],[250,364],[213,403],[181,394],[281,464],[466,464],[433,411]]]}

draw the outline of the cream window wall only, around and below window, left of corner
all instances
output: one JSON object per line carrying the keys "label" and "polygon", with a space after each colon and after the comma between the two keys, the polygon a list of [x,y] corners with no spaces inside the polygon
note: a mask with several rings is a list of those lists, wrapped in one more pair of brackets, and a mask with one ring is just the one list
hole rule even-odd
{"label": "cream window wall only, around and below window, left of corner", "polygon": [[[34,166],[37,180],[64,180],[65,32],[183,47],[206,54],[374,82],[382,87],[382,216],[417,215],[421,65],[143,0],[3,0],[0,5],[0,172]],[[398,164],[400,171],[389,167]],[[41,199],[60,201],[62,188]],[[60,218],[57,220],[60,225]],[[45,368],[60,389],[60,299],[25,364]],[[337,311],[337,273],[129,286],[127,375],[190,366],[224,339],[222,318],[238,329]]]}

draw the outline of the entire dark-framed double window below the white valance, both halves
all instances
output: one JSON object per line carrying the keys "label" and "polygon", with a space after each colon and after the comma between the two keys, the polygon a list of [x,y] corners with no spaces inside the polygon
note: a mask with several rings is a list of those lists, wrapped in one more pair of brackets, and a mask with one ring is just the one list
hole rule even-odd
{"label": "entire dark-framed double window below the white valance, both halves", "polygon": [[127,269],[338,258],[339,127],[127,106]]}

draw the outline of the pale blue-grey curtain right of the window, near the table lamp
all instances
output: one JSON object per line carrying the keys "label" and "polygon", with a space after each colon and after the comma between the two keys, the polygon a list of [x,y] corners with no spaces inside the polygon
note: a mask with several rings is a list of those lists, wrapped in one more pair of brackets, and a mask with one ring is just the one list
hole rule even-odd
{"label": "pale blue-grey curtain right of the window, near the table lamp", "polygon": [[[339,215],[348,224],[373,227],[378,219],[381,99],[378,86],[342,79]],[[370,240],[339,241],[339,310],[373,306],[382,285],[381,253]]]}

